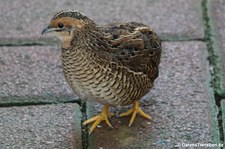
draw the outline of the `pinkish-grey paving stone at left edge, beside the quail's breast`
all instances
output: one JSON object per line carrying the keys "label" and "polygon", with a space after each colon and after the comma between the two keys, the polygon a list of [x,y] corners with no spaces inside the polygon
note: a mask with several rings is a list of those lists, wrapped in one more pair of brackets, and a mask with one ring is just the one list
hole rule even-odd
{"label": "pinkish-grey paving stone at left edge, beside the quail's breast", "polygon": [[0,103],[77,99],[63,76],[59,47],[0,47]]}

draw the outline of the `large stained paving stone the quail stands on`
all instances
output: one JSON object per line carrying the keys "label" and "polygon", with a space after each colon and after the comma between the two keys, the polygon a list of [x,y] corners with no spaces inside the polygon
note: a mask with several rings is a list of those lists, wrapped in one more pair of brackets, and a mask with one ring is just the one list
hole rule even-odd
{"label": "large stained paving stone the quail stands on", "polygon": [[[209,87],[208,69],[204,42],[163,43],[159,78],[141,100],[143,110],[154,121],[139,116],[129,128],[130,117],[112,117],[114,129],[100,124],[89,138],[90,149],[167,149],[181,148],[182,143],[219,143],[218,110]],[[91,108],[90,116],[96,112]],[[113,111],[121,113],[125,109]]]}

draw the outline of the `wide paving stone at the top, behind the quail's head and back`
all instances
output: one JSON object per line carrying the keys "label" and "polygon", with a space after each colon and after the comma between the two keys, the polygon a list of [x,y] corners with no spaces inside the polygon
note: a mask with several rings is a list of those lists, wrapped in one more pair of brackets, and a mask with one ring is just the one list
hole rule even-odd
{"label": "wide paving stone at the top, behind the quail's head and back", "polygon": [[138,21],[164,36],[203,37],[201,1],[196,0],[8,0],[0,1],[0,38],[39,38],[62,9],[80,10],[97,24]]}

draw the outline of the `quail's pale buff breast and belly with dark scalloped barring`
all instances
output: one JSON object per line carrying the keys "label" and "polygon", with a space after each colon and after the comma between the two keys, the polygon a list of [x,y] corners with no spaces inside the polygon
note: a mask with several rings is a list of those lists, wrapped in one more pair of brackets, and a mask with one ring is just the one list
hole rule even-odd
{"label": "quail's pale buff breast and belly with dark scalloped barring", "polygon": [[138,89],[143,82],[136,84],[141,79],[134,80],[135,75],[112,70],[108,63],[99,64],[87,55],[79,51],[62,54],[65,78],[81,99],[117,106],[143,96]]}

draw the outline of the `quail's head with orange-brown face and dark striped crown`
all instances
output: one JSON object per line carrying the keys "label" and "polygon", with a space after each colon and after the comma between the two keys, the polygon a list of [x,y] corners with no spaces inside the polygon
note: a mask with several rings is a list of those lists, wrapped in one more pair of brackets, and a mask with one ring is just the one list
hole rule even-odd
{"label": "quail's head with orange-brown face and dark striped crown", "polygon": [[58,12],[42,31],[42,35],[54,32],[62,41],[72,38],[74,32],[93,26],[94,22],[83,13],[76,10],[63,10]]}

